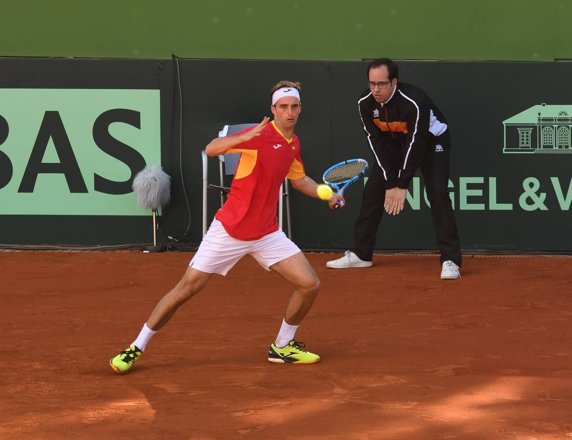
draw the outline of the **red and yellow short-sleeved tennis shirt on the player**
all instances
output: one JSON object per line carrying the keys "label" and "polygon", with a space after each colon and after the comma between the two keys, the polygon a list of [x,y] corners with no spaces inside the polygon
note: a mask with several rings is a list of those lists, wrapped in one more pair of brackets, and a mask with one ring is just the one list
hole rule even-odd
{"label": "red and yellow short-sleeved tennis shirt on the player", "polygon": [[[249,127],[230,136],[252,130]],[[274,121],[266,124],[260,136],[241,143],[228,153],[242,153],[227,201],[215,218],[228,235],[237,240],[258,240],[278,230],[276,204],[285,177],[305,176],[300,158],[300,141],[295,134],[284,138]]]}

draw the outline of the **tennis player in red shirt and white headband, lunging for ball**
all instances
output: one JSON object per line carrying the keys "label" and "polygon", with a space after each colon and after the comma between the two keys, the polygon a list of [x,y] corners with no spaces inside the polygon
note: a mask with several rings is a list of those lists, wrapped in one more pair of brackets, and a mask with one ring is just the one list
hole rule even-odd
{"label": "tennis player in red shirt and white headband, lunging for ball", "polygon": [[[280,185],[288,177],[292,187],[319,198],[317,184],[305,175],[300,142],[294,127],[300,115],[300,84],[282,81],[272,88],[272,122],[264,118],[255,127],[235,135],[216,138],[206,154],[218,156],[241,152],[227,201],[215,215],[185,275],[166,294],[143,325],[129,348],[112,358],[118,374],[125,374],[141,357],[153,335],[173,317],[177,309],[206,285],[213,273],[227,272],[244,255],[252,255],[268,271],[289,281],[290,297],[276,340],[268,350],[268,361],[314,364],[317,354],[304,350],[294,336],[320,289],[320,280],[300,249],[278,226],[276,204]],[[335,192],[328,199],[333,209],[343,197]]]}

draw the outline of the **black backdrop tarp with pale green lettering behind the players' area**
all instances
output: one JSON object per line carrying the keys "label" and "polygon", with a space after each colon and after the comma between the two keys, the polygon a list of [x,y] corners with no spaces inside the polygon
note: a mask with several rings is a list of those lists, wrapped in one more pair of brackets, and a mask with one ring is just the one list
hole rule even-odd
{"label": "black backdrop tarp with pale green lettering behind the players' area", "polygon": [[[10,88],[160,88],[162,165],[173,178],[172,203],[164,209],[161,232],[165,236],[186,232],[189,239],[199,241],[201,150],[225,124],[259,122],[271,116],[269,89],[281,79],[302,84],[303,110],[296,134],[309,176],[320,180],[325,168],[347,158],[363,157],[373,165],[357,107],[365,88],[366,66],[366,62],[0,58],[0,84]],[[400,80],[426,90],[450,124],[451,191],[462,248],[572,251],[570,204],[566,204],[571,197],[572,154],[503,153],[503,120],[541,103],[561,106],[572,115],[572,63],[403,61],[399,67]],[[460,179],[471,177],[483,183],[468,184],[472,194],[462,195]],[[535,194],[545,193],[546,209],[521,207],[523,181],[528,177],[539,182]],[[558,179],[561,200],[551,177]],[[491,209],[491,178],[496,179],[492,196],[498,203],[511,203],[511,210]],[[211,158],[209,181],[217,180],[217,161]],[[319,200],[292,191],[296,243],[302,248],[351,247],[362,184],[348,189],[347,207],[335,212]],[[0,190],[0,201],[1,197]],[[462,197],[470,204],[463,209]],[[219,200],[216,192],[209,192],[209,220]],[[483,204],[484,209],[474,209],[475,204]],[[0,216],[0,242],[121,244],[149,241],[150,237],[148,217],[38,217]],[[378,249],[434,249],[430,212],[423,197],[420,209],[406,204],[399,216],[384,217],[376,243]]]}

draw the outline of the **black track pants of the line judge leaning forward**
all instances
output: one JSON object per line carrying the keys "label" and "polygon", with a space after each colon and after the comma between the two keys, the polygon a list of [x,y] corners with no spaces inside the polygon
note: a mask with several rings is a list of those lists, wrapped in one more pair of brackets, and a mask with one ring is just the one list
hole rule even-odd
{"label": "black track pants of the line judge leaning forward", "polygon": [[[440,148],[443,150],[440,151]],[[441,253],[440,261],[443,263],[451,260],[460,267],[459,236],[447,188],[450,152],[451,137],[446,131],[438,138],[432,138],[427,144],[426,154],[419,168],[426,185],[427,199],[431,204],[437,246]],[[364,261],[373,259],[375,235],[382,220],[383,204],[386,200],[385,182],[382,169],[374,162],[363,191],[362,209],[353,227],[352,252]]]}

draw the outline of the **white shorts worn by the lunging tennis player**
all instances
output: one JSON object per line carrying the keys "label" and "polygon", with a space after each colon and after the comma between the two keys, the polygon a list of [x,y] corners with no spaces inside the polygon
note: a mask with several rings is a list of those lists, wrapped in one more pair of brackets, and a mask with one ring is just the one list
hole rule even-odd
{"label": "white shorts worn by the lunging tennis player", "polygon": [[189,266],[197,271],[227,275],[245,255],[250,254],[267,271],[278,263],[301,252],[282,229],[252,241],[237,240],[225,231],[219,220],[213,220]]}

